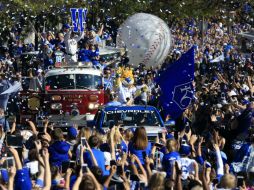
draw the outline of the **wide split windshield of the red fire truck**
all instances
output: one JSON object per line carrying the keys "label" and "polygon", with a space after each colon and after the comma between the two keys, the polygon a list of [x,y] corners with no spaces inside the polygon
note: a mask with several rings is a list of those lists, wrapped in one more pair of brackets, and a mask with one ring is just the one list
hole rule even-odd
{"label": "wide split windshield of the red fire truck", "polygon": [[102,85],[102,77],[90,74],[54,75],[46,78],[47,90],[96,89]]}

